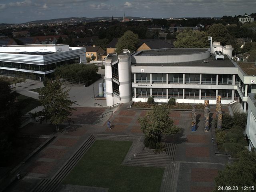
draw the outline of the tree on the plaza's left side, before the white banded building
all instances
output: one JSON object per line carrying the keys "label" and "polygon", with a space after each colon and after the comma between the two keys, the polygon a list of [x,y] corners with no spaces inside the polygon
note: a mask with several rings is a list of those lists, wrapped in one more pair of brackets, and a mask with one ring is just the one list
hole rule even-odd
{"label": "tree on the plaza's left side, before the white banded building", "polygon": [[76,110],[71,107],[75,102],[68,100],[69,90],[64,91],[60,78],[56,78],[55,81],[48,81],[45,89],[39,92],[39,101],[44,108],[36,115],[50,120],[56,126],[57,131],[59,124],[68,120],[68,116],[72,115],[72,110]]}

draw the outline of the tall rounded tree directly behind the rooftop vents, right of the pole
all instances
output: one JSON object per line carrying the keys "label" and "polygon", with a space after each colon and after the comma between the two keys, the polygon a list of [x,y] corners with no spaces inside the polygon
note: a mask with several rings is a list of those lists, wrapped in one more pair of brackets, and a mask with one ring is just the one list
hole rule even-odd
{"label": "tall rounded tree directly behind the rooftop vents, right of the pole", "polygon": [[209,36],[212,36],[213,41],[218,41],[224,46],[234,42],[234,37],[230,36],[227,28],[223,24],[213,24],[207,33]]}

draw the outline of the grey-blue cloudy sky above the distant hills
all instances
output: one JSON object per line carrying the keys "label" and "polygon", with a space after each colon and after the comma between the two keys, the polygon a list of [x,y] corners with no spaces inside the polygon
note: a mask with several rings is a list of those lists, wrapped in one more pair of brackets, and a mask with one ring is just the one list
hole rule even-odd
{"label": "grey-blue cloudy sky above the distant hills", "polygon": [[0,0],[0,23],[68,17],[222,17],[256,12],[256,0]]}

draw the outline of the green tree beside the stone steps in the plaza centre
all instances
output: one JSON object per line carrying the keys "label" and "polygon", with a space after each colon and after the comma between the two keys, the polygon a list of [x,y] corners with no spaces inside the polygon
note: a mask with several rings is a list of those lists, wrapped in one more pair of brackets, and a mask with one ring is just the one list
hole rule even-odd
{"label": "green tree beside the stone steps in the plaza centre", "polygon": [[138,119],[146,138],[158,143],[161,142],[162,134],[172,135],[180,132],[180,128],[174,125],[174,121],[169,114],[170,108],[166,104],[155,105],[144,117]]}

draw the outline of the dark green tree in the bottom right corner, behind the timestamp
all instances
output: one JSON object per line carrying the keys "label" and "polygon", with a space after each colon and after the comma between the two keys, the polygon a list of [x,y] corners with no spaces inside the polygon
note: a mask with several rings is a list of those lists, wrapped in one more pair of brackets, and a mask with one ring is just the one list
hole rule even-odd
{"label": "dark green tree in the bottom right corner, behind the timestamp", "polygon": [[[256,186],[256,152],[243,150],[239,154],[238,162],[226,166],[224,170],[218,171],[215,178],[216,186]],[[254,191],[252,190],[252,191]],[[216,188],[215,191],[219,191]]]}

